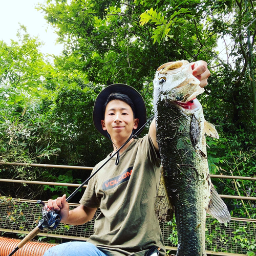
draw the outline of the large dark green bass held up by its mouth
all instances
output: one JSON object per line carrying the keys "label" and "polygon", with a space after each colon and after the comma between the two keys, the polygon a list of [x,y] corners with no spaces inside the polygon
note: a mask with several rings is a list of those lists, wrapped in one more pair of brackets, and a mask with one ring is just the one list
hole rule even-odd
{"label": "large dark green bass held up by its mouth", "polygon": [[218,133],[204,120],[196,98],[204,91],[199,83],[186,60],[165,63],[154,79],[157,143],[162,160],[156,209],[161,220],[175,212],[177,256],[206,256],[206,212],[220,222],[231,219],[210,180],[205,133],[216,138]]}

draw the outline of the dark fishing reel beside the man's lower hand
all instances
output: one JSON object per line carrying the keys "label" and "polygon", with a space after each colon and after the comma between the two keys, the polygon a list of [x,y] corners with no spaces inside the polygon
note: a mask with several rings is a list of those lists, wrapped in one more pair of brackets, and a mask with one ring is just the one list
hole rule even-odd
{"label": "dark fishing reel beside the man's lower hand", "polygon": [[42,219],[39,221],[39,225],[42,228],[55,229],[59,225],[61,216],[54,210],[48,211],[45,203],[41,200],[38,200],[36,203],[42,205]]}

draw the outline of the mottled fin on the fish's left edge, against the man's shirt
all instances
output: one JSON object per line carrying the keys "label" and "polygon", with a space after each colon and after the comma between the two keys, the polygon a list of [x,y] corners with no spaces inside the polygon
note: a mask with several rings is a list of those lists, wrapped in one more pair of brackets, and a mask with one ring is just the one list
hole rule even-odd
{"label": "mottled fin on the fish's left edge, against the man's shirt", "polygon": [[174,208],[169,201],[165,181],[161,174],[160,184],[155,201],[155,213],[159,222],[166,222],[173,219]]}

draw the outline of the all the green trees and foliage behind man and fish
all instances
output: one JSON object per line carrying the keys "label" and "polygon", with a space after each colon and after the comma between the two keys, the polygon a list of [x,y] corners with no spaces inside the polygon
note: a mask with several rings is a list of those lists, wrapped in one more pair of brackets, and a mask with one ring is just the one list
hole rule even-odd
{"label": "all the green trees and foliage behind man and fish", "polygon": [[[51,63],[40,53],[41,41],[23,26],[17,42],[0,41],[0,161],[94,166],[112,148],[92,124],[94,100],[103,87],[133,86],[145,99],[150,117],[155,70],[170,60],[203,59],[211,76],[200,101],[206,120],[216,124],[220,134],[218,141],[207,140],[210,173],[255,176],[253,1],[47,0],[38,9],[65,47]],[[217,42],[224,50],[220,55]],[[9,179],[71,183],[89,175],[28,166],[0,168],[0,177]],[[255,182],[214,184],[220,194],[256,195]],[[29,199],[47,200],[62,193],[70,191],[10,183],[0,188],[4,196]],[[232,216],[256,218],[254,202],[226,203]]]}

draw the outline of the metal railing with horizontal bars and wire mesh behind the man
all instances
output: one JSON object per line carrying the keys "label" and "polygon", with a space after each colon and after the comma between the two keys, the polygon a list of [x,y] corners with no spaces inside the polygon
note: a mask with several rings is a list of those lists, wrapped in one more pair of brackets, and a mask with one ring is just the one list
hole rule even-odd
{"label": "metal railing with horizontal bars and wire mesh behind the man", "polygon": [[[82,170],[92,170],[93,167],[85,167],[85,166],[70,166],[70,165],[53,165],[53,164],[27,164],[27,163],[14,163],[14,162],[0,162],[0,165],[22,165],[22,166],[31,166],[31,167],[47,167],[47,168],[68,168],[68,169],[82,169]],[[219,178],[219,179],[233,179],[233,180],[252,180],[255,181],[256,177],[239,177],[239,176],[226,176],[226,175],[210,175],[211,178]],[[14,180],[14,179],[0,179],[0,182],[15,182],[15,183],[27,183],[27,184],[38,184],[38,185],[57,185],[57,186],[72,186],[78,187],[80,184],[73,184],[73,183],[56,183],[56,182],[45,182],[45,181],[30,181],[30,180]],[[86,187],[87,185],[84,185]],[[239,199],[239,200],[252,200],[256,201],[256,197],[242,197],[242,196],[229,196],[229,195],[220,195],[222,198],[229,198],[229,199]],[[14,233],[29,233],[30,229],[37,224],[41,212],[41,208],[36,206],[34,200],[14,200],[15,202],[11,207],[14,207],[13,210],[10,208],[10,205],[4,205],[0,202],[0,231],[3,232],[14,232]],[[21,205],[22,203],[29,204],[29,207],[23,209],[23,217],[20,217],[19,212],[15,211],[18,207],[17,205]],[[16,206],[15,206],[16,205]],[[71,208],[76,207],[78,204],[70,204]],[[15,208],[16,207],[16,208]],[[28,209],[30,207],[35,207],[33,209],[33,213],[31,214]],[[21,208],[20,208],[21,209]],[[38,212],[37,212],[38,211]],[[7,215],[13,214],[13,218],[3,218],[6,214]],[[100,210],[98,209],[96,212],[99,214]],[[22,225],[17,219],[22,219]],[[95,218],[94,218],[95,219]],[[91,234],[93,233],[94,227],[94,219],[86,224],[79,225],[79,226],[72,226],[67,227],[64,224],[60,224],[56,230],[53,231],[42,231],[38,234],[38,236],[45,236],[45,237],[52,237],[52,238],[66,238],[66,239],[73,239],[73,240],[82,240],[86,241]],[[211,224],[214,223],[214,219],[207,218],[206,220],[206,228],[209,236],[212,233],[216,232],[216,225],[212,226]],[[250,230],[248,239],[255,239],[256,237],[256,220],[255,219],[245,219],[245,218],[231,218],[231,222],[228,225],[218,224],[218,228],[220,228],[221,232],[228,234],[231,240],[232,233],[236,231],[236,229],[244,227],[246,230]],[[164,243],[167,250],[176,250],[175,244],[170,242],[169,237],[172,236],[174,232],[174,227],[166,225],[166,223],[160,223],[160,227],[163,234]],[[208,255],[240,255],[245,256],[246,250],[243,249],[240,245],[237,245],[234,248],[233,243],[231,241],[222,243],[218,240],[212,240],[210,243],[206,241],[206,250]]]}

